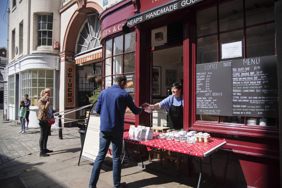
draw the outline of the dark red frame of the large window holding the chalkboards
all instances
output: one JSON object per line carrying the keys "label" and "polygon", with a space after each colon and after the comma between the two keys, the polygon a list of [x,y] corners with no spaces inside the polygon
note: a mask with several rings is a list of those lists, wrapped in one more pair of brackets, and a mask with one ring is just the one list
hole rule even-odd
{"label": "dark red frame of the large window holding the chalkboards", "polygon": [[[218,32],[217,33],[212,33],[210,35],[216,35],[218,37],[218,43],[217,43],[217,60],[219,61],[219,34],[221,33],[226,33],[226,32],[230,32],[230,31],[236,31],[236,30],[242,30],[244,29],[244,58],[246,57],[246,28],[250,28],[250,27],[254,27],[254,26],[259,26],[259,25],[265,25],[268,23],[274,23],[275,21],[268,21],[268,22],[263,22],[263,23],[259,23],[259,24],[255,24],[252,26],[246,26],[245,24],[245,0],[243,1],[243,9],[244,9],[244,26],[241,28],[236,28],[233,30],[229,30],[229,31],[224,31],[224,32],[219,32],[219,28],[218,28]],[[210,8],[212,6],[217,6],[217,12],[218,10],[218,6],[221,3],[226,3],[226,1],[221,1],[221,2],[215,2],[214,4],[210,4],[207,6],[201,6],[198,9],[195,9],[195,17],[196,17],[196,13],[199,10],[204,10],[207,8]],[[196,19],[196,18],[195,18]],[[217,22],[219,23],[219,17],[217,17]],[[195,20],[196,23],[196,20]],[[189,26],[189,31],[192,31],[192,27],[193,26]],[[219,27],[219,25],[218,25]],[[184,31],[185,32],[185,31]],[[196,28],[194,30],[195,33],[196,32]],[[231,135],[240,135],[240,136],[248,136],[248,137],[259,137],[259,138],[270,138],[270,139],[279,139],[279,130],[278,130],[278,118],[276,119],[276,126],[272,127],[272,126],[266,126],[266,127],[262,127],[262,126],[251,126],[251,125],[246,125],[246,119],[245,119],[245,125],[243,124],[230,124],[230,123],[220,123],[220,116],[218,116],[218,122],[214,123],[214,122],[209,122],[209,121],[197,121],[197,117],[196,117],[196,59],[197,59],[197,48],[196,48],[196,40],[197,38],[202,38],[205,36],[210,36],[210,35],[203,35],[203,36],[199,36],[196,37],[195,35],[192,36],[192,41],[190,39],[190,43],[189,44],[189,38],[184,40],[184,46],[188,46],[188,48],[192,48],[191,50],[185,50],[184,49],[184,54],[185,52],[187,52],[188,54],[191,54],[191,58],[189,59],[189,55],[184,55],[184,62],[185,62],[185,57],[188,58],[188,60],[190,61],[190,63],[192,63],[192,70],[191,70],[191,77],[189,77],[189,66],[185,66],[184,64],[184,77],[187,79],[192,79],[192,84],[187,85],[185,84],[185,79],[184,79],[184,92],[185,93],[189,93],[191,96],[191,99],[189,99],[189,96],[186,96],[186,100],[184,99],[184,103],[185,104],[191,104],[191,109],[187,110],[187,106],[185,105],[184,107],[184,113],[187,114],[187,111],[189,113],[189,116],[184,116],[184,125],[189,123],[189,130],[195,130],[195,131],[205,131],[205,132],[213,132],[213,133],[221,133],[221,134],[231,134]],[[185,35],[184,35],[185,36]],[[190,35],[191,37],[191,35]],[[193,40],[195,38],[195,40]],[[276,40],[275,40],[276,41]],[[188,44],[187,44],[188,43]],[[275,46],[275,50],[276,50],[276,46]],[[190,51],[190,53],[189,53]],[[276,54],[276,52],[275,52]],[[190,64],[189,63],[189,64]],[[191,83],[191,82],[190,82]],[[187,87],[185,87],[187,86]],[[188,98],[188,99],[187,99]],[[189,103],[190,102],[190,103]],[[191,117],[189,119],[189,117]],[[185,128],[185,126],[184,126]]]}

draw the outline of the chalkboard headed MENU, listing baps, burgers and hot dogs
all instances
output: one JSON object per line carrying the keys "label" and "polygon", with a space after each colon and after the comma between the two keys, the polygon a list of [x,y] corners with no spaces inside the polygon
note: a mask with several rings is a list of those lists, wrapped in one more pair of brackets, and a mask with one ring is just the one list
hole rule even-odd
{"label": "chalkboard headed MENU, listing baps, burgers and hot dogs", "polygon": [[276,56],[232,60],[233,116],[278,117]]}

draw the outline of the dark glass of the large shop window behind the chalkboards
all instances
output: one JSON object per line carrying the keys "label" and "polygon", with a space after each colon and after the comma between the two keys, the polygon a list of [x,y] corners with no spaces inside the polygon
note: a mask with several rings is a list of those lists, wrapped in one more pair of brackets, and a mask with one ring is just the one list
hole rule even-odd
{"label": "dark glass of the large shop window behind the chalkboards", "polygon": [[[275,55],[274,0],[233,0],[217,4],[197,11],[196,23],[198,65]],[[223,57],[222,45],[230,43],[241,46],[241,54]],[[277,126],[276,118],[252,116],[196,114],[196,121]]]}

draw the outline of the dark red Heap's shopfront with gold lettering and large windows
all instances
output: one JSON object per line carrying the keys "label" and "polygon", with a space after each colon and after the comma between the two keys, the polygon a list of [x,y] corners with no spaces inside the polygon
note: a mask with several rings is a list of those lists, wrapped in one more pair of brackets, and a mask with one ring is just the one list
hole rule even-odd
{"label": "dark red Heap's shopfront with gold lettering and large windows", "polygon": [[[114,83],[116,75],[124,74],[127,83],[132,82],[125,89],[138,106],[144,102],[155,104],[166,96],[171,87],[169,84],[182,82],[184,130],[208,132],[214,138],[225,138],[227,142],[212,156],[218,183],[228,187],[280,185],[278,106],[275,107],[275,101],[270,102],[274,107],[271,107],[271,115],[265,118],[251,112],[236,115],[232,101],[234,105],[237,97],[234,98],[234,93],[239,91],[232,90],[232,83],[233,86],[236,83],[236,69],[230,68],[233,82],[229,85],[210,84],[230,87],[232,96],[225,100],[231,101],[233,114],[221,111],[218,115],[204,115],[197,109],[198,87],[201,87],[197,67],[214,67],[222,62],[235,64],[236,61],[254,61],[256,58],[261,62],[264,59],[276,61],[274,1],[125,0],[103,11],[100,23],[103,89]],[[236,50],[228,55],[230,48]],[[172,60],[166,56],[170,53]],[[269,67],[268,73],[277,74],[277,67]],[[224,80],[225,77],[219,72],[217,79]],[[275,79],[276,76],[271,78]],[[155,82],[162,87],[156,89]],[[277,88],[271,91],[277,95]],[[268,93],[265,96],[276,95]],[[229,103],[226,106],[229,108]],[[132,124],[152,126],[153,123],[154,118],[146,112],[138,116],[130,111],[125,114],[125,129]],[[181,170],[188,176],[187,168],[189,175],[193,175],[197,164],[184,156]],[[208,166],[203,168],[209,173]]]}

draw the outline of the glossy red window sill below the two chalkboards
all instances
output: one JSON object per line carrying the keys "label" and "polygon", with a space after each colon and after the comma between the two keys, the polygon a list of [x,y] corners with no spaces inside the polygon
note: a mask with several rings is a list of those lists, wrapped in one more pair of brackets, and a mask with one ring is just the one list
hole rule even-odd
{"label": "glossy red window sill below the two chalkboards", "polygon": [[196,121],[191,127],[189,127],[189,130],[258,138],[279,139],[278,128],[270,126],[244,126],[229,123],[209,123],[204,121]]}

